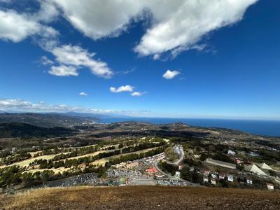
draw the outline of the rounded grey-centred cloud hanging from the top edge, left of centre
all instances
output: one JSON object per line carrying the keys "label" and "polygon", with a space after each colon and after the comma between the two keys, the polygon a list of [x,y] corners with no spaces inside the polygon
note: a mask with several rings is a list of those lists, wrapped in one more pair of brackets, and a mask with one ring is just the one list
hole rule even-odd
{"label": "rounded grey-centred cloud hanging from the top edge, left of centre", "polygon": [[[144,0],[146,1],[146,0]],[[127,29],[144,4],[139,0],[52,0],[73,27],[94,40],[118,36]]]}

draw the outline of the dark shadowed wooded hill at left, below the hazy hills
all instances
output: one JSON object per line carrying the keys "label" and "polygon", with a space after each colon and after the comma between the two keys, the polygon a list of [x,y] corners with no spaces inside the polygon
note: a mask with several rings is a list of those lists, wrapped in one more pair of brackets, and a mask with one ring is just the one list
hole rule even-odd
{"label": "dark shadowed wooded hill at left, below the hazy hills", "polygon": [[66,127],[38,127],[26,123],[0,123],[0,137],[61,137],[75,133]]}

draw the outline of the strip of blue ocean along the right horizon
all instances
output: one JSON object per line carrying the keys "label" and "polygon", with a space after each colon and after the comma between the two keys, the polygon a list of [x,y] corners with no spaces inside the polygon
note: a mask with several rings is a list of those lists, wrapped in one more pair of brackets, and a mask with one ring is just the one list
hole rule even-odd
{"label": "strip of blue ocean along the right horizon", "polygon": [[280,121],[272,120],[222,120],[193,118],[102,118],[100,123],[139,121],[155,124],[186,123],[200,127],[221,127],[264,136],[280,137]]}

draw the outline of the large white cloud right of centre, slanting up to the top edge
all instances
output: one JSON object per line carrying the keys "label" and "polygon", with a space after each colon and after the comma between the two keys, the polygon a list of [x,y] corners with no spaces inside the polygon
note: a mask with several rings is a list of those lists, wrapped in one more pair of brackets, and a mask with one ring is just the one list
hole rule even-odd
{"label": "large white cloud right of centre, slanting up to the top edge", "polygon": [[134,50],[144,56],[188,50],[210,31],[241,20],[256,1],[153,1],[150,8],[155,21]]}

